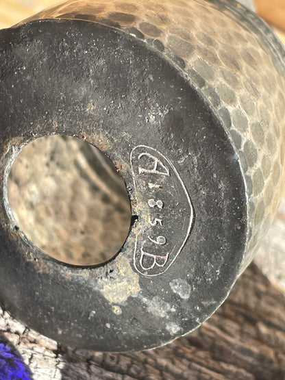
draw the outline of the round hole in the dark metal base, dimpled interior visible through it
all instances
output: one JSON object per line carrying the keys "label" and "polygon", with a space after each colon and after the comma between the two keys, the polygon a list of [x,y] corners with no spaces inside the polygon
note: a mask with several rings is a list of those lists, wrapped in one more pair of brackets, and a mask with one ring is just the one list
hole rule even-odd
{"label": "round hole in the dark metal base, dimpled interior visible through it", "polygon": [[38,138],[18,154],[8,199],[27,238],[68,264],[111,259],[131,224],[125,183],[112,162],[70,136]]}

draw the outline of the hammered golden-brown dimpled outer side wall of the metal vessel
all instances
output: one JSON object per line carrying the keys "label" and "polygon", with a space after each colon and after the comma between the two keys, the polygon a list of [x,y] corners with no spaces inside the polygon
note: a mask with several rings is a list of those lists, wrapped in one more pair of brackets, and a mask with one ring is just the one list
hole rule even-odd
{"label": "hammered golden-brown dimpled outer side wall of the metal vessel", "polygon": [[271,29],[236,1],[67,1],[40,18],[95,21],[143,40],[177,66],[220,118],[247,187],[243,269],[284,195],[285,53]]}

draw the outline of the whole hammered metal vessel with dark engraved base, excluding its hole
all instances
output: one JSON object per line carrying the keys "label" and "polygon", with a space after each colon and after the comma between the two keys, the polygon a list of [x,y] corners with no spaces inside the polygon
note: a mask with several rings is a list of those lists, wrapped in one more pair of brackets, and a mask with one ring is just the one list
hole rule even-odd
{"label": "whole hammered metal vessel with dark engraved base, excluding its hole", "polygon": [[[206,320],[284,194],[284,59],[235,1],[67,1],[0,31],[1,305],[99,351],[159,346]],[[49,134],[120,163],[134,220],[106,264],[56,262],[14,228],[9,168]]]}

